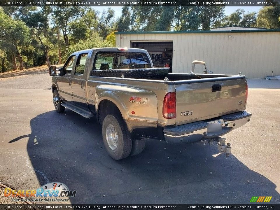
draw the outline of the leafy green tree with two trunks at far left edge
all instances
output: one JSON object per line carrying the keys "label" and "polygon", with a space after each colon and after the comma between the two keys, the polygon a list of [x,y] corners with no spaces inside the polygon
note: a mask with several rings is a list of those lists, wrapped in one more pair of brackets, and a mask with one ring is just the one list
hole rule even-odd
{"label": "leafy green tree with two trunks at far left edge", "polygon": [[13,69],[17,69],[15,55],[20,63],[20,70],[23,70],[23,57],[21,51],[27,48],[30,42],[29,29],[21,20],[14,20],[0,10],[0,45],[12,55]]}

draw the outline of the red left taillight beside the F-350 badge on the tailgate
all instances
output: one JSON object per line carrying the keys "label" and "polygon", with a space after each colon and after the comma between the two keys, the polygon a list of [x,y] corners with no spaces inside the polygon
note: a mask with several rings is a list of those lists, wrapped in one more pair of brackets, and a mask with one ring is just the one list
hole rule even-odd
{"label": "red left taillight beside the F-350 badge on the tailgate", "polygon": [[164,118],[176,118],[176,92],[169,92],[164,96],[162,114]]}

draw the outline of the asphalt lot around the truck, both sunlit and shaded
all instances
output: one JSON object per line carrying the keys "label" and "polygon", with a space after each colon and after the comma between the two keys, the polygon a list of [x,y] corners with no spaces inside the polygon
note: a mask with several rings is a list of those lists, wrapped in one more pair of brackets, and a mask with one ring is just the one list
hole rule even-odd
{"label": "asphalt lot around the truck, both sunlit and shaded", "polygon": [[252,118],[225,135],[230,157],[201,142],[148,140],[143,153],[120,161],[107,155],[95,119],[55,112],[50,81],[44,68],[0,76],[1,183],[27,190],[61,182],[77,191],[71,203],[279,203],[280,81],[248,80]]}

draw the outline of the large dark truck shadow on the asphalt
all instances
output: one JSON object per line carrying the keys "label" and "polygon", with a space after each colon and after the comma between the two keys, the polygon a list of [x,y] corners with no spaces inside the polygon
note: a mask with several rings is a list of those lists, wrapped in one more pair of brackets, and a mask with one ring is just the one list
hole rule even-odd
{"label": "large dark truck shadow on the asphalt", "polygon": [[233,155],[213,157],[216,146],[149,140],[143,153],[115,161],[95,119],[66,109],[40,114],[30,126],[27,151],[40,184],[76,190],[71,203],[249,203],[252,196],[278,202],[274,183]]}

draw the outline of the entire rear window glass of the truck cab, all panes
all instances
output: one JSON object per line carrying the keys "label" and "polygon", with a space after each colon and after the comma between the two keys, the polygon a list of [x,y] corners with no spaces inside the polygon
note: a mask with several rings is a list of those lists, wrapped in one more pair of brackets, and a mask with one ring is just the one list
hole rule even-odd
{"label": "entire rear window glass of the truck cab, all panes", "polygon": [[150,68],[146,53],[97,53],[93,70]]}

